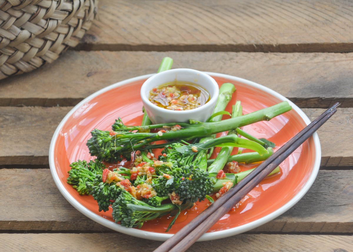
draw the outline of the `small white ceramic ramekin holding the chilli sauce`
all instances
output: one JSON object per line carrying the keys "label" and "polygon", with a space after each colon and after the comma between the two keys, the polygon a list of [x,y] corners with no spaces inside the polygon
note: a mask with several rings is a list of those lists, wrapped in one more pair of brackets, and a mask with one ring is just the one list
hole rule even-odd
{"label": "small white ceramic ramekin holding the chilli sauce", "polygon": [[[198,108],[181,111],[161,108],[149,101],[148,96],[152,88],[168,82],[174,82],[175,80],[195,83],[201,86],[209,93],[210,100]],[[141,87],[143,106],[154,124],[187,122],[189,119],[204,122],[212,115],[218,94],[219,86],[211,76],[189,68],[177,68],[157,73],[148,78]]]}

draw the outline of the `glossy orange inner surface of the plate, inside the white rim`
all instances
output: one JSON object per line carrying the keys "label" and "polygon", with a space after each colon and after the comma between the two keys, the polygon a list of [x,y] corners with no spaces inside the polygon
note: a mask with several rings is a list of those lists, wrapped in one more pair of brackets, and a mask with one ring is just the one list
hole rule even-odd
{"label": "glossy orange inner surface of the plate, inside the white rim", "polygon": [[[219,85],[232,82],[232,80],[226,78],[213,78]],[[145,79],[142,79],[124,86],[118,86],[84,103],[67,119],[55,143],[54,162],[62,185],[84,208],[112,222],[114,221],[111,209],[107,212],[98,212],[97,202],[92,196],[80,196],[71,185],[66,183],[67,171],[70,169],[70,163],[78,159],[94,160],[85,145],[90,138],[92,129],[111,130],[111,125],[119,116],[126,125],[140,125],[143,116],[142,101],[138,92],[135,91],[140,89],[144,81]],[[229,112],[231,112],[232,104],[237,100],[241,101],[244,114],[281,102],[278,98],[252,86],[239,82],[233,83],[237,91],[226,108]],[[226,115],[223,116],[223,119],[226,118]],[[303,119],[292,110],[270,121],[245,126],[243,130],[255,137],[264,137],[276,143],[276,151],[305,126]],[[222,134],[226,133],[221,133],[219,136]],[[214,156],[217,151],[219,151],[219,148],[216,148]],[[312,173],[314,162],[315,145],[313,139],[309,138],[281,163],[280,174],[263,180],[242,200],[237,208],[223,216],[208,232],[248,224],[278,210],[304,187]],[[241,170],[250,168],[252,166],[241,166]],[[205,200],[198,203],[196,209],[182,212],[168,233],[178,232],[199,212],[203,211],[207,203],[207,200]],[[146,222],[142,229],[165,234],[170,220],[171,217],[163,216],[157,220]]]}

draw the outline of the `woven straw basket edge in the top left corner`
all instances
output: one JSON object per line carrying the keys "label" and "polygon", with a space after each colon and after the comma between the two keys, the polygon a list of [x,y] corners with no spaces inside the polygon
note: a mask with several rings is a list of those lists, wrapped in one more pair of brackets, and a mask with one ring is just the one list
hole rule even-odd
{"label": "woven straw basket edge in the top left corner", "polygon": [[0,79],[35,70],[75,47],[98,0],[0,0]]}

